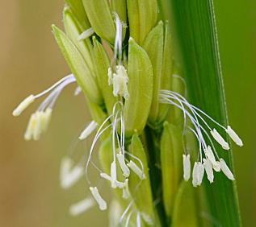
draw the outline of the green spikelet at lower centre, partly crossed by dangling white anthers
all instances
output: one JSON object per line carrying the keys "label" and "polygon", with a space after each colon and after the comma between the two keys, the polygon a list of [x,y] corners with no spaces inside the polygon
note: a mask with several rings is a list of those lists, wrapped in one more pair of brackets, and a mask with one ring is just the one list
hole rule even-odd
{"label": "green spikelet at lower centre, partly crossed by dangling white anthers", "polygon": [[[129,176],[129,187],[131,189],[131,192],[135,192],[135,203],[137,208],[141,212],[141,216],[143,217],[144,221],[148,225],[153,225],[155,223],[155,213],[153,210],[153,197],[149,178],[148,161],[143,144],[136,131],[132,135],[131,145],[132,155],[134,155],[137,159],[140,159],[141,162],[139,162],[137,159],[131,160],[136,164],[136,167],[140,168],[141,171],[142,163],[143,173],[145,176],[140,177],[135,171],[131,171],[131,174]],[[138,184],[140,185],[138,186]]]}

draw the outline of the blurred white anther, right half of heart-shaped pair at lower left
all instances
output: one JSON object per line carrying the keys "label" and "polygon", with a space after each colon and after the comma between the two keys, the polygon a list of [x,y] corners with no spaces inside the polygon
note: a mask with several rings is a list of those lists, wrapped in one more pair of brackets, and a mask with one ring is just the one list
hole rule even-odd
{"label": "blurred white anther, right half of heart-shaped pair at lower left", "polygon": [[73,167],[71,171],[67,172],[66,175],[61,178],[61,187],[64,189],[71,188],[73,184],[76,184],[84,174],[85,168],[81,165]]}

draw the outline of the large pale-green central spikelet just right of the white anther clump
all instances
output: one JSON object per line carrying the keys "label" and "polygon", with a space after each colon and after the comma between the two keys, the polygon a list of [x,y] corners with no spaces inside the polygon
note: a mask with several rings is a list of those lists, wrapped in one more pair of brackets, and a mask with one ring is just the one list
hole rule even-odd
{"label": "large pale-green central spikelet just right of the white anther clump", "polygon": [[125,136],[129,138],[134,130],[141,134],[147,122],[153,94],[153,76],[149,56],[132,38],[129,39],[128,56],[130,97],[124,104],[124,122]]}

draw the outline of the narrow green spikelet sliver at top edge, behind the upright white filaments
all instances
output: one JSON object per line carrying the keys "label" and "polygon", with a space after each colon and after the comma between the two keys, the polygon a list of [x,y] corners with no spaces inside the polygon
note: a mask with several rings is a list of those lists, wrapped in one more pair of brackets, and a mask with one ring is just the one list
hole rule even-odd
{"label": "narrow green spikelet sliver at top edge, behind the upright white filaments", "polygon": [[121,23],[123,25],[122,41],[124,41],[127,27],[126,0],[111,0],[111,11],[115,11],[120,17]]}

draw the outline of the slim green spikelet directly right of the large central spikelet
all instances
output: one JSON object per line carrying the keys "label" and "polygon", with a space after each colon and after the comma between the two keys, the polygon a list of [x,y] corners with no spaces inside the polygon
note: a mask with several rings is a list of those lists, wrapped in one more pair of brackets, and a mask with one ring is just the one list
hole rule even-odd
{"label": "slim green spikelet directly right of the large central spikelet", "polygon": [[149,33],[143,45],[145,52],[147,52],[149,55],[149,59],[153,68],[153,97],[149,112],[149,122],[151,124],[157,122],[159,93],[162,77],[162,52],[164,41],[163,35],[163,23],[161,21],[158,23],[157,27],[154,27],[153,30]]}

